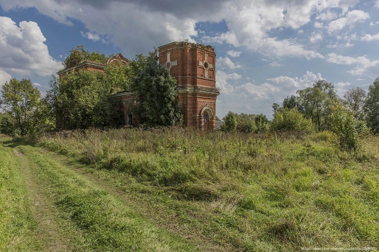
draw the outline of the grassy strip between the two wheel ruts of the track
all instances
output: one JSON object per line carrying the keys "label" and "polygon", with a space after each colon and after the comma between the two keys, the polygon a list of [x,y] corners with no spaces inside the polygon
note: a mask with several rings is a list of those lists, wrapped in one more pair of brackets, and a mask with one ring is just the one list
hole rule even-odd
{"label": "grassy strip between the two wheel ruts of the track", "polygon": [[108,192],[60,162],[25,145],[33,175],[66,220],[70,249],[78,251],[194,251],[183,238],[150,224]]}

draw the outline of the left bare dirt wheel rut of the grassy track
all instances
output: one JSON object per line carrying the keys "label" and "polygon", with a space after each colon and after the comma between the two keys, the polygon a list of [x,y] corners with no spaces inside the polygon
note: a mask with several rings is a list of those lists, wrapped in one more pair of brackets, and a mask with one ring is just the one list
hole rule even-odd
{"label": "left bare dirt wheel rut of the grassy track", "polygon": [[33,215],[38,221],[39,240],[46,251],[69,251],[68,241],[59,232],[60,227],[53,214],[54,206],[44,197],[43,189],[36,183],[30,170],[28,159],[16,149],[14,154],[20,161],[22,171],[26,178],[29,196],[33,203]]}

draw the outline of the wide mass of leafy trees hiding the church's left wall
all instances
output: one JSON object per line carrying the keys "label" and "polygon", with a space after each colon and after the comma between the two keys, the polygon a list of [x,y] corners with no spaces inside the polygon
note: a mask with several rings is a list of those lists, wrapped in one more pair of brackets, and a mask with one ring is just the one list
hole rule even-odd
{"label": "wide mass of leafy trees hiding the church's left wall", "polygon": [[116,126],[121,105],[112,104],[113,87],[96,71],[78,70],[60,79],[52,77],[47,104],[56,118],[56,128],[76,129]]}

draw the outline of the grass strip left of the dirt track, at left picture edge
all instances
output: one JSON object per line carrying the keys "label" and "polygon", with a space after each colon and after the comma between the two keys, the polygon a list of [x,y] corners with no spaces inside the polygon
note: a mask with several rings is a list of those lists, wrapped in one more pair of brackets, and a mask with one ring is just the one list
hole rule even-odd
{"label": "grass strip left of the dirt track, at left picture edge", "polygon": [[0,251],[41,251],[25,177],[13,149],[0,140]]}

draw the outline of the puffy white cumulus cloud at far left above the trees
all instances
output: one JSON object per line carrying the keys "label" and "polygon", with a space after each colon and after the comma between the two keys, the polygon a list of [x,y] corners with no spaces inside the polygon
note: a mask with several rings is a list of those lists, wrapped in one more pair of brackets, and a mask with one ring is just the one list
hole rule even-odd
{"label": "puffy white cumulus cloud at far left above the trees", "polygon": [[62,64],[50,56],[38,24],[22,21],[19,26],[9,17],[0,17],[0,67],[6,71],[49,76]]}

